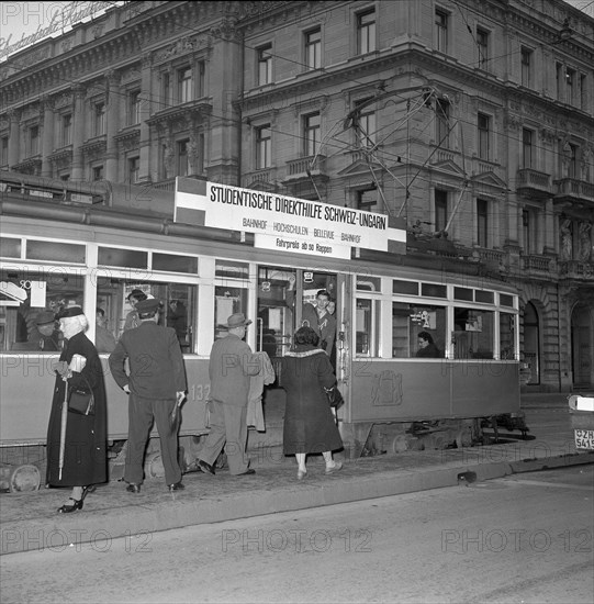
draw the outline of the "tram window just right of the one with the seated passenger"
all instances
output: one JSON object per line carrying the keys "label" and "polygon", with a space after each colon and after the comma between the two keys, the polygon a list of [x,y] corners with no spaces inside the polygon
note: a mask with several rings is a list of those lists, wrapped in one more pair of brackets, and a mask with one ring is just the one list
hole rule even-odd
{"label": "tram window just right of the one with the seated passenger", "polygon": [[493,358],[493,314],[491,311],[455,309],[455,358]]}

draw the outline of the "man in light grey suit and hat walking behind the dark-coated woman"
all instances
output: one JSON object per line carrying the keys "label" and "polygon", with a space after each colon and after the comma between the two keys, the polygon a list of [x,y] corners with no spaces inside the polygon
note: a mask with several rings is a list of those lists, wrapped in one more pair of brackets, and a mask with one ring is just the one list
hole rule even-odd
{"label": "man in light grey suit and hat walking behind the dark-coated woman", "polygon": [[233,476],[254,474],[246,459],[247,401],[250,377],[260,372],[260,359],[244,342],[251,323],[244,313],[227,318],[226,337],[217,339],[211,349],[211,432],[200,451],[199,468],[214,474],[214,462],[225,447]]}

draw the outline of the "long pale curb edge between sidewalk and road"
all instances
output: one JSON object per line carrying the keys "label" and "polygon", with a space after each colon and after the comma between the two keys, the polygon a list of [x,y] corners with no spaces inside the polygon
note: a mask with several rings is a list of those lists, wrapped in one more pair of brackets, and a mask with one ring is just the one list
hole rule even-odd
{"label": "long pale curb edge between sidewalk and road", "polygon": [[150,540],[153,533],[171,528],[366,501],[593,462],[594,451],[586,451],[516,462],[455,463],[439,469],[400,468],[368,476],[335,474],[322,481],[313,476],[310,480],[281,485],[278,490],[249,489],[211,497],[181,497],[176,505],[171,505],[170,500],[167,503],[142,502],[135,506],[102,508],[87,515],[3,523],[0,553],[43,549],[61,551],[82,544],[107,551],[116,538],[126,539],[126,547],[141,548],[143,543],[146,545]]}

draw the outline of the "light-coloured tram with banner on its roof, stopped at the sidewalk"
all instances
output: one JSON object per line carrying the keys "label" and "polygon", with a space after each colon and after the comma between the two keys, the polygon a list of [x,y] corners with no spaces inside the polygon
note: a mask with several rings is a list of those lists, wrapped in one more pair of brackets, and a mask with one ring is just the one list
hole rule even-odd
{"label": "light-coloured tram with banner on its roof, stopped at the sidewalk", "polygon": [[[517,293],[468,262],[408,258],[406,232],[383,214],[328,214],[320,202],[182,178],[164,191],[2,171],[0,194],[3,448],[45,443],[59,353],[40,349],[38,313],[101,309],[117,337],[135,289],[162,302],[161,321],[178,333],[188,376],[181,437],[209,430],[208,359],[226,317],[253,318],[247,342],[278,369],[302,304],[321,289],[336,302],[332,360],[348,455],[470,446],[484,418],[522,416]],[[417,356],[422,332],[438,357]],[[96,340],[92,320],[88,335]],[[127,399],[109,374],[109,351],[100,356],[116,443],[126,438]],[[281,387],[277,374],[265,410]]]}

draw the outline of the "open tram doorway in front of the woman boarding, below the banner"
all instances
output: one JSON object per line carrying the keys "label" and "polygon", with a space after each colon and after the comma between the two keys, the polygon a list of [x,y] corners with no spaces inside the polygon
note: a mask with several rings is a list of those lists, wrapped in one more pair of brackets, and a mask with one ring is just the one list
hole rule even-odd
{"label": "open tram doorway in front of the woman boarding, below the banner", "polygon": [[[293,344],[295,329],[309,323],[306,317],[312,316],[312,307],[306,305],[315,305],[320,290],[329,293],[334,304],[329,304],[328,311],[336,320],[335,273],[273,266],[258,267],[257,349],[268,353],[270,358],[284,356]],[[334,359],[335,345],[332,350],[330,359]]]}

